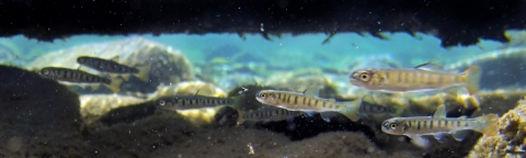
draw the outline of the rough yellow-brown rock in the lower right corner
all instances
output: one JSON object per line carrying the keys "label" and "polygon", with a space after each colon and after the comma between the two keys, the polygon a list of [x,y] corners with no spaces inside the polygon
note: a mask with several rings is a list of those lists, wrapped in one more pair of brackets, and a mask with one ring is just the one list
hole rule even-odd
{"label": "rough yellow-brown rock in the lower right corner", "polygon": [[526,156],[525,114],[526,100],[521,100],[515,109],[510,110],[499,120],[499,134],[480,138],[469,157],[515,158]]}

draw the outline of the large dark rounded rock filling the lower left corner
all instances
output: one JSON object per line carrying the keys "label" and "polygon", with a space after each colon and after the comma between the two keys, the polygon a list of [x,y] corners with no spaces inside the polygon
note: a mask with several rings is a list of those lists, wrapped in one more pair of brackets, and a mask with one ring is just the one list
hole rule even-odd
{"label": "large dark rounded rock filling the lower left corner", "polygon": [[0,157],[85,157],[79,98],[39,75],[0,66]]}

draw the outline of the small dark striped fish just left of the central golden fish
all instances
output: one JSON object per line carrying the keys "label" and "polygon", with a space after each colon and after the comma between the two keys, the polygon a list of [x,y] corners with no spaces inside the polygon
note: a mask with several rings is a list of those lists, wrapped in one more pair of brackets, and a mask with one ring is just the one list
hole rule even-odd
{"label": "small dark striped fish just left of the central golden fish", "polygon": [[205,95],[174,95],[163,97],[156,101],[157,108],[171,111],[217,108],[222,105],[235,105],[235,100],[231,98],[215,98]]}

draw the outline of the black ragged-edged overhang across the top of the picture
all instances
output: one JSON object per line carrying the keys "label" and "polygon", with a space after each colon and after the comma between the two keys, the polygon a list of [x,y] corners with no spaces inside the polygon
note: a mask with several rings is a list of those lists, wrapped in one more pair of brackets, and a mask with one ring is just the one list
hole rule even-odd
{"label": "black ragged-edged overhang across the top of the picture", "polygon": [[455,46],[507,42],[505,30],[526,27],[525,9],[524,0],[14,0],[0,2],[0,36],[381,31],[428,33]]}

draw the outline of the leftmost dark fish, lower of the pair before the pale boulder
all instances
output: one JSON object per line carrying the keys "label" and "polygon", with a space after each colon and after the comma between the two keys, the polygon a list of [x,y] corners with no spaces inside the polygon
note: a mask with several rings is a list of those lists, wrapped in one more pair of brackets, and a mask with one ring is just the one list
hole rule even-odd
{"label": "leftmost dark fish, lower of the pair before the pale boulder", "polygon": [[99,86],[100,86],[99,83],[102,83],[113,92],[121,91],[121,83],[123,82],[123,80],[121,79],[108,79],[108,78],[100,77],[85,71],[69,69],[69,68],[60,68],[60,67],[42,68],[39,70],[39,75],[43,76],[44,78],[59,80],[59,81],[76,82],[76,83],[98,83],[98,84],[91,86],[93,90],[99,89]]}

